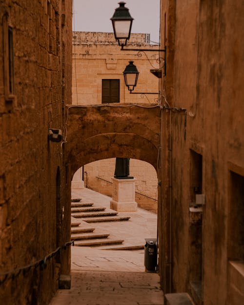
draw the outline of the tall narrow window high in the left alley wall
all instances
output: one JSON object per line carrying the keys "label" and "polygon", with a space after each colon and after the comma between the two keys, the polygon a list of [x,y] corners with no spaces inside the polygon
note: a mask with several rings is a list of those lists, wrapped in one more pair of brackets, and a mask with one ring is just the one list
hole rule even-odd
{"label": "tall narrow window high in the left alley wall", "polygon": [[3,64],[5,100],[14,98],[14,46],[13,28],[8,24],[8,15],[3,16]]}

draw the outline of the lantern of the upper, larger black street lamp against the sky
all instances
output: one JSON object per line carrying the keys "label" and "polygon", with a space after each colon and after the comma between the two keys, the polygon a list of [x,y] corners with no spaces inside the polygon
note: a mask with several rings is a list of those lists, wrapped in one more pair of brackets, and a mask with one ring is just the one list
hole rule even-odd
{"label": "lantern of the upper, larger black street lamp against the sky", "polygon": [[122,47],[126,45],[130,39],[130,31],[133,18],[130,16],[129,10],[124,6],[125,2],[121,1],[119,7],[115,9],[114,15],[110,20],[113,24],[114,36]]}

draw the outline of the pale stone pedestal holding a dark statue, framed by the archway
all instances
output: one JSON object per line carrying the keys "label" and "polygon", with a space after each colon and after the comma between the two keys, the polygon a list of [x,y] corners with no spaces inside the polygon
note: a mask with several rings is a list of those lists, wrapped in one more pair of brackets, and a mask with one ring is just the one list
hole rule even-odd
{"label": "pale stone pedestal holding a dark statue, framed by the archway", "polygon": [[136,179],[113,180],[113,198],[110,201],[110,208],[118,212],[130,212],[137,210],[135,202]]}

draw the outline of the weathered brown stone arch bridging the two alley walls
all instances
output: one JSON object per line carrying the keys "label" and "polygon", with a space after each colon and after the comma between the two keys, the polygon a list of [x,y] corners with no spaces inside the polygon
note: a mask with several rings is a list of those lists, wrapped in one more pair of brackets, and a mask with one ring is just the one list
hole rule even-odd
{"label": "weathered brown stone arch bridging the two alley walls", "polygon": [[160,147],[157,105],[67,107],[65,156],[72,174],[84,164],[113,157],[146,161],[157,171]]}

